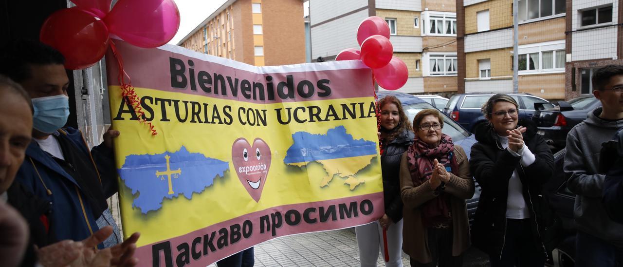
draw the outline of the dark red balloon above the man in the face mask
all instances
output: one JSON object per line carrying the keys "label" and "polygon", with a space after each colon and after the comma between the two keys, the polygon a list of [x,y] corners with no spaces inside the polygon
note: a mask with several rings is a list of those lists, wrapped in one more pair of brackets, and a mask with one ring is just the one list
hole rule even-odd
{"label": "dark red balloon above the man in the face mask", "polygon": [[108,49],[104,22],[76,7],[52,13],[43,23],[39,39],[65,56],[67,69],[93,66]]}

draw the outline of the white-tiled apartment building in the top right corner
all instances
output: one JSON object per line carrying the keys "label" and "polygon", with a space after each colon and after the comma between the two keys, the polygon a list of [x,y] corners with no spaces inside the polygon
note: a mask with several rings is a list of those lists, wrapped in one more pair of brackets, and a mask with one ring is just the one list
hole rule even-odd
{"label": "white-tiled apartment building in the top right corner", "polygon": [[567,0],[566,95],[592,92],[594,69],[623,65],[623,0]]}

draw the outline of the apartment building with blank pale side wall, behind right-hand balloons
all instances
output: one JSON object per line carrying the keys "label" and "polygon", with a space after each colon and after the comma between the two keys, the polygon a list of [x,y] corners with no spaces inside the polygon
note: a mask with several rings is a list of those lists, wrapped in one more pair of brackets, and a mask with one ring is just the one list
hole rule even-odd
{"label": "apartment building with blank pale side wall, behind right-hand balloons", "polygon": [[389,24],[394,56],[407,65],[400,92],[447,95],[457,91],[457,17],[454,0],[310,0],[312,59],[334,60],[359,47],[356,32],[369,16]]}

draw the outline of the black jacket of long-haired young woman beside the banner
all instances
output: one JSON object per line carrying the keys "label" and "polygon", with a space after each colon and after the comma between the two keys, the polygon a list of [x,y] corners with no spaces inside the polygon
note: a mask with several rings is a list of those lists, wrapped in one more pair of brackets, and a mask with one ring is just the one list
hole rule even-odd
{"label": "black jacket of long-haired young woman beside the banner", "polygon": [[394,223],[402,219],[402,198],[400,197],[400,159],[402,153],[413,143],[415,134],[404,131],[394,140],[383,143],[381,155],[381,172],[383,173],[383,197],[385,214]]}

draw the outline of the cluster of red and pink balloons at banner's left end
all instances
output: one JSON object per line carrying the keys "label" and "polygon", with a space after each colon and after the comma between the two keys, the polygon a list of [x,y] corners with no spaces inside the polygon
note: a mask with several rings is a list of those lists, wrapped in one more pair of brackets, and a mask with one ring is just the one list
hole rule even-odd
{"label": "cluster of red and pink balloons at banner's left end", "polygon": [[109,36],[134,46],[153,48],[171,41],[179,28],[173,0],[71,0],[75,7],[50,15],[39,32],[44,44],[65,56],[67,69],[84,69],[100,61]]}

